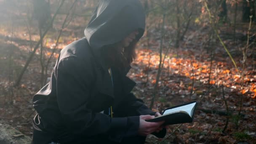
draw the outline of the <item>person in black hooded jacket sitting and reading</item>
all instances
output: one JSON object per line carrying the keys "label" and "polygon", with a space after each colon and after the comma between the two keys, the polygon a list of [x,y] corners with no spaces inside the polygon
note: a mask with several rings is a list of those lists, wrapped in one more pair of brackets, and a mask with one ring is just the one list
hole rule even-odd
{"label": "person in black hooded jacket sitting and reading", "polygon": [[33,97],[32,144],[141,144],[163,138],[160,116],[131,93],[126,74],[145,29],[139,0],[100,0],[85,37],[59,54],[51,81]]}

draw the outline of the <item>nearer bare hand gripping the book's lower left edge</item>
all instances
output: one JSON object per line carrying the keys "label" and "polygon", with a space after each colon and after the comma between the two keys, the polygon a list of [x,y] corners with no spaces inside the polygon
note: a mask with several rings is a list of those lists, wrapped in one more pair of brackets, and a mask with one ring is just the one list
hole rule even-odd
{"label": "nearer bare hand gripping the book's lower left edge", "polygon": [[145,120],[150,120],[152,118],[155,118],[155,116],[152,115],[141,115],[139,116],[139,135],[141,136],[147,136],[150,133],[156,131],[163,123],[161,122],[146,122]]}

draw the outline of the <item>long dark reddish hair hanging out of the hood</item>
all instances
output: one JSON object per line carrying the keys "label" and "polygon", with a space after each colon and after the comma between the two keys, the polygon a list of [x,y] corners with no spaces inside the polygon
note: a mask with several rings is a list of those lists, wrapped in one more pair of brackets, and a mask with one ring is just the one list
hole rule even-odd
{"label": "long dark reddish hair hanging out of the hood", "polygon": [[123,69],[128,67],[136,58],[135,46],[137,41],[133,40],[128,47],[122,48],[122,42],[106,45],[101,49],[101,55],[104,57],[108,67],[117,67]]}

